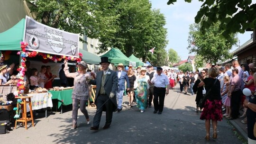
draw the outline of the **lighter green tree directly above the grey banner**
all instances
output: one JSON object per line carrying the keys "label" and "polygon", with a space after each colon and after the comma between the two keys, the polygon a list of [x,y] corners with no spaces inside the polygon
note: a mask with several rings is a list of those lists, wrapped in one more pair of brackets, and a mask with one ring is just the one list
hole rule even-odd
{"label": "lighter green tree directly above the grey banner", "polygon": [[37,0],[35,9],[41,23],[71,33],[98,38],[101,29],[116,31],[118,15],[111,9],[119,0]]}

